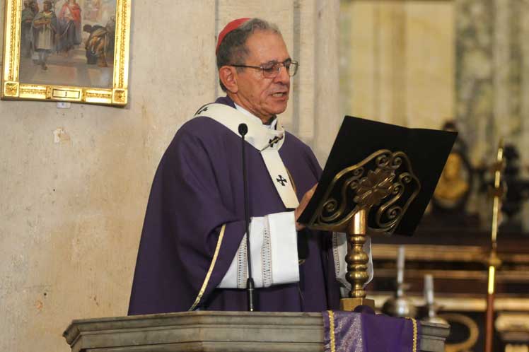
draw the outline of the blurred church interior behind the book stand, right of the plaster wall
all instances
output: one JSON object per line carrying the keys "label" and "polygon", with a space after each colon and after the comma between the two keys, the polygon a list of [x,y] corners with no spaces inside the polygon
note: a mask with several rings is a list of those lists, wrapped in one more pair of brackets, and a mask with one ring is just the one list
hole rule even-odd
{"label": "blurred church interior behind the book stand, right of the plaster wall", "polygon": [[529,346],[529,27],[527,1],[351,1],[340,10],[342,112],[458,131],[413,237],[373,238],[377,306],[395,292],[405,244],[405,295],[424,307],[434,277],[446,351],[483,351],[492,166],[504,139],[506,194],[497,237],[494,351]]}

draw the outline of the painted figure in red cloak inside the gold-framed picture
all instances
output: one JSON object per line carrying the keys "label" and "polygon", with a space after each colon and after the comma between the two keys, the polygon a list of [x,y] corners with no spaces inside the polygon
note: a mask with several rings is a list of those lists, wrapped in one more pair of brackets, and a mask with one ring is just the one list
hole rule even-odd
{"label": "painted figure in red cloak inside the gold-framed picture", "polygon": [[68,53],[81,44],[81,6],[76,0],[65,0],[59,11],[59,45],[60,52]]}

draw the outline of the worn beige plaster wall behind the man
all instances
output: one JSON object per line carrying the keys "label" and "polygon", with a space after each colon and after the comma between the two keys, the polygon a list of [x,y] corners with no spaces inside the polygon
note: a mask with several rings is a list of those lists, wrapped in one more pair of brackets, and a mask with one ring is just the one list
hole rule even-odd
{"label": "worn beige plaster wall behind the man", "polygon": [[127,107],[0,102],[0,351],[69,351],[71,319],[126,315],[156,165],[221,94],[228,20],[279,25],[301,61],[284,123],[325,160],[341,122],[338,12],[337,0],[132,1]]}

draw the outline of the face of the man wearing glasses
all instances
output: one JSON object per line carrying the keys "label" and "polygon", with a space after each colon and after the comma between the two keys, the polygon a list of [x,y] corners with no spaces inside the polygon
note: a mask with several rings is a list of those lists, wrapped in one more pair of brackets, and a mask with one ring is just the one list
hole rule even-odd
{"label": "face of the man wearing glasses", "polygon": [[[249,54],[243,64],[248,66],[262,66],[290,59],[283,38],[276,33],[257,31],[248,37],[246,46]],[[238,104],[263,122],[286,110],[290,77],[284,67],[281,67],[274,78],[266,78],[262,71],[249,68],[238,72],[237,76]]]}

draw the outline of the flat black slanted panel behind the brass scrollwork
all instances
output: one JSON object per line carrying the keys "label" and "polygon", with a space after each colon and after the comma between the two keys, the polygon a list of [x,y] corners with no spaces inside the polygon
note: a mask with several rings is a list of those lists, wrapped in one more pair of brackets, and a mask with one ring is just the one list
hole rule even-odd
{"label": "flat black slanted panel behind the brass scrollwork", "polygon": [[[402,152],[405,153],[407,158],[391,157],[390,163],[402,163],[402,167],[397,170],[395,179],[402,177],[402,180],[406,180],[405,175],[412,172],[412,175],[415,176],[414,180],[406,184],[406,187],[403,187],[408,189],[395,189],[393,187],[391,189],[393,193],[386,194],[385,201],[381,201],[378,204],[378,206],[383,207],[383,212],[380,214],[377,215],[377,209],[373,207],[368,218],[368,227],[378,227],[375,224],[376,221],[388,223],[391,221],[391,211],[396,213],[402,211],[402,217],[391,232],[400,235],[412,235],[434,193],[456,136],[457,133],[452,131],[411,129],[358,117],[344,117],[342,127],[338,131],[315,194],[305,211],[301,214],[298,222],[308,225],[309,228],[318,228],[318,226],[313,226],[315,219],[318,217],[321,219],[327,215],[327,219],[333,218],[335,215],[332,214],[332,211],[337,208],[341,208],[343,213],[353,211],[356,207],[354,199],[358,195],[358,183],[361,178],[366,178],[366,180],[362,181],[365,186],[376,185],[371,182],[371,179],[375,180],[374,182],[377,180],[373,171],[376,170],[377,165],[380,165],[380,160],[373,158],[365,164],[363,161],[367,160],[369,156],[373,156],[373,154],[375,156],[380,154],[379,158],[384,158],[392,156],[392,153]],[[384,154],[380,151],[388,151],[388,153]],[[350,168],[352,165],[361,165],[361,168],[356,168],[354,171],[356,173],[361,172],[361,175],[357,175],[358,177],[353,176],[353,171],[349,175],[344,175],[343,170]],[[342,173],[339,174],[340,172]],[[373,174],[373,177],[371,177],[371,174]],[[337,175],[344,176],[341,182],[337,181]],[[352,180],[354,177],[356,177],[356,180]],[[345,179],[347,181],[344,181]],[[349,183],[345,184],[344,182]],[[414,189],[414,182],[417,185],[420,184],[420,186]],[[404,184],[405,182],[402,183]],[[382,184],[381,186],[380,189],[383,191],[384,185]],[[404,200],[400,201],[400,203],[396,201],[388,204],[388,199],[392,199],[397,194],[397,191],[404,193],[402,194]],[[345,196],[344,192],[348,193],[347,196]],[[413,196],[411,196],[412,193]],[[371,194],[367,195],[364,192],[364,196],[373,195],[376,196],[376,192],[371,192]],[[412,200],[405,203],[406,196]],[[334,204],[328,201],[325,203],[330,197],[333,197]],[[346,198],[347,201],[344,200]],[[327,214],[322,215],[326,211]]]}

